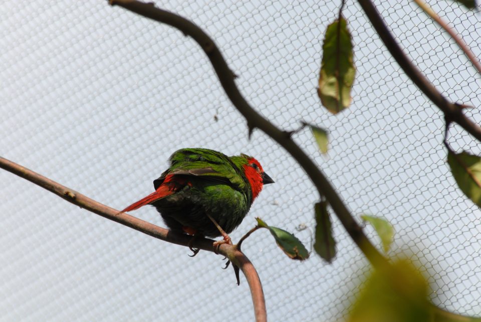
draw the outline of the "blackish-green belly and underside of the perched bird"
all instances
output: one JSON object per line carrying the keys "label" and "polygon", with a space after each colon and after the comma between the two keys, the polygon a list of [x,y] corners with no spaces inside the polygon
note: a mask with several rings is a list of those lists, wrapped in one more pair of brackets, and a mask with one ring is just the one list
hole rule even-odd
{"label": "blackish-green belly and underside of the perched bird", "polygon": [[[218,191],[216,191],[216,189]],[[249,207],[245,196],[237,191],[226,192],[225,185],[209,187],[185,186],[181,191],[162,198],[152,205],[157,208],[165,224],[172,231],[182,227],[196,230],[196,234],[218,237],[220,232],[206,216],[209,214],[226,233],[234,230],[246,216]]]}

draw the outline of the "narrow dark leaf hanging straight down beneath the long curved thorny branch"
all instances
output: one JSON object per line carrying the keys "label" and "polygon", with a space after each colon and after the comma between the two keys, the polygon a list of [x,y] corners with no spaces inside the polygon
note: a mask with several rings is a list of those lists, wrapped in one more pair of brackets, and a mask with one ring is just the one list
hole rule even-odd
{"label": "narrow dark leaf hanging straight down beneath the long curved thorny branch", "polygon": [[336,241],[332,236],[331,217],[327,211],[327,201],[321,201],[314,206],[316,213],[316,242],[314,250],[327,262],[336,255]]}

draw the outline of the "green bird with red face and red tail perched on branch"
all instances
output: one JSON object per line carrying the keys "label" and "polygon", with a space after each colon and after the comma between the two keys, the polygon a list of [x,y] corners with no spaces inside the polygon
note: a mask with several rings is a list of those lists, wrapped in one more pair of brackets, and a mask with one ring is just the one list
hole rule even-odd
{"label": "green bird with red face and red tail perched on branch", "polygon": [[154,180],[155,191],[122,210],[152,205],[171,231],[193,238],[219,237],[214,247],[232,244],[228,234],[246,217],[265,184],[274,180],[254,157],[227,156],[204,148],[184,148],[169,158],[169,167]]}

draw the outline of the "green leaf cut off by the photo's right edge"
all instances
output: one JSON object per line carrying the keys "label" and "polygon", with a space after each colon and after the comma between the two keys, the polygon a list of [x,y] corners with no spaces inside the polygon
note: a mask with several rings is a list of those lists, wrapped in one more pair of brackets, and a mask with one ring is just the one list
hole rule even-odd
{"label": "green leaf cut off by the photo's right edge", "polygon": [[481,158],[465,151],[448,151],[447,163],[461,191],[481,207]]}

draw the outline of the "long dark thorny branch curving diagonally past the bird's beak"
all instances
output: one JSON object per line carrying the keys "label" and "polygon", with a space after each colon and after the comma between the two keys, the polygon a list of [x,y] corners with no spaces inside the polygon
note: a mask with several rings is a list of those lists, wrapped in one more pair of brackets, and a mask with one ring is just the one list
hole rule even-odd
{"label": "long dark thorny branch curving diagonally past the bird's beak", "polygon": [[[191,21],[171,12],[155,8],[152,6],[152,4],[145,4],[133,0],[110,0],[110,4],[123,7],[141,16],[175,27],[184,35],[192,37],[200,45],[202,50],[209,58],[210,63],[212,64],[215,73],[219,78],[222,88],[235,108],[247,120],[249,129],[258,128],[264,131],[267,135],[279,143],[279,145],[286,149],[286,151],[288,151],[294,157],[304,171],[306,171],[316,186],[319,194],[321,196],[325,196],[329,201],[329,204],[341,221],[342,225],[357,246],[364,253],[364,255],[368,258],[368,260],[375,267],[384,265],[386,263],[386,258],[366,237],[361,226],[354,220],[354,217],[344,205],[336,190],[334,190],[331,183],[327,180],[317,165],[288,135],[286,135],[286,132],[281,131],[271,122],[257,113],[249,105],[242,94],[240,94],[237,86],[235,85],[231,70],[228,68],[227,63],[212,39],[210,39]],[[481,133],[479,138],[481,139]]]}

